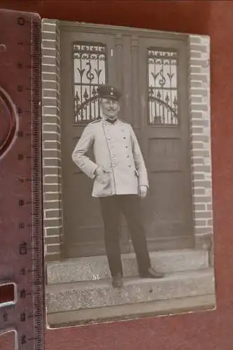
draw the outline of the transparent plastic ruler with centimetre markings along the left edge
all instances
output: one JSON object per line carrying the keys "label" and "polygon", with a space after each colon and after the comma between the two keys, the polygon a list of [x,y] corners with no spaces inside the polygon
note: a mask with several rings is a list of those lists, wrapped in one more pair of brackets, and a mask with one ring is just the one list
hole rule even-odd
{"label": "transparent plastic ruler with centimetre markings along the left edge", "polygon": [[34,13],[0,10],[0,333],[15,349],[43,350],[41,23]]}

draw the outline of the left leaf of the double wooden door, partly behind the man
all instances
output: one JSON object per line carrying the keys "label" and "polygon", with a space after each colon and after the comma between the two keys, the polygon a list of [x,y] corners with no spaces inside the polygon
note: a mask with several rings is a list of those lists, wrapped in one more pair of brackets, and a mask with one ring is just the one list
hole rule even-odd
{"label": "left leaf of the double wooden door, partly behind the man", "polygon": [[[105,253],[99,200],[92,197],[92,181],[76,167],[71,153],[87,123],[101,116],[97,86],[110,83],[122,88],[122,47],[114,34],[61,33],[62,193],[67,258]],[[89,155],[92,158],[91,151]],[[122,252],[128,251],[124,221],[121,246]]]}

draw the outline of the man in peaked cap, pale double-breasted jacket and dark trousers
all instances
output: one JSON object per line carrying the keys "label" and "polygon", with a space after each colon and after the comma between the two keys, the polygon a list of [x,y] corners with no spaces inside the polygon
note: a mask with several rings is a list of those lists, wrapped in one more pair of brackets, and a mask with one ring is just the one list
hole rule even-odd
{"label": "man in peaked cap, pale double-breasted jacket and dark trousers", "polygon": [[[76,148],[73,162],[90,179],[94,179],[93,197],[99,197],[104,220],[104,240],[113,288],[122,287],[120,258],[120,212],[129,226],[139,275],[162,278],[150,265],[146,235],[141,223],[140,197],[146,197],[148,174],[139,143],[132,126],[118,119],[120,92],[113,86],[98,88],[104,115],[85,127]],[[94,162],[86,153],[93,147]]]}

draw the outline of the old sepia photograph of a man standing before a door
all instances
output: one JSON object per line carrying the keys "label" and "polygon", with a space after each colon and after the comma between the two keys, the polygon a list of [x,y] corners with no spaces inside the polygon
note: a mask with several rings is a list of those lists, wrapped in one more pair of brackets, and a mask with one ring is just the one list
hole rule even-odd
{"label": "old sepia photograph of a man standing before a door", "polygon": [[215,309],[209,37],[41,35],[48,327]]}

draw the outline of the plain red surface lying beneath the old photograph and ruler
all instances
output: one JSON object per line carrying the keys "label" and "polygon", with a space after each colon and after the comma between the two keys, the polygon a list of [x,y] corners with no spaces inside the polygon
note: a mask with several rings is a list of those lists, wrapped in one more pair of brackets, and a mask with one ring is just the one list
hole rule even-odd
{"label": "plain red surface lying beneath the old photograph and ruler", "polygon": [[46,330],[45,350],[232,350],[233,2],[8,0],[0,5],[37,12],[41,18],[211,36],[216,311]]}

